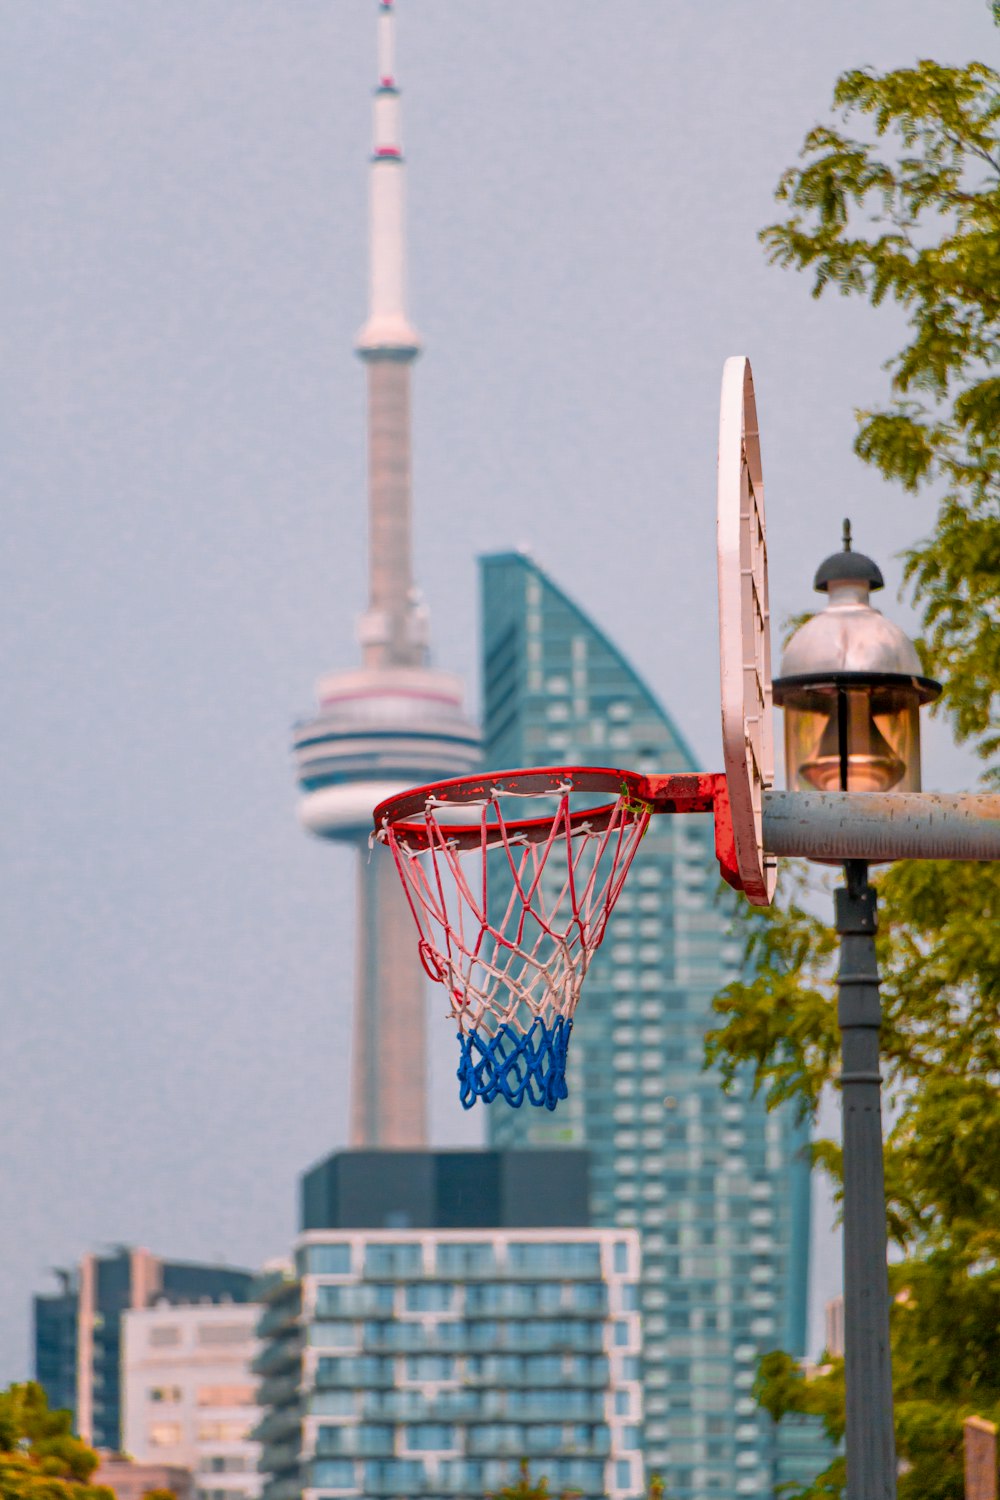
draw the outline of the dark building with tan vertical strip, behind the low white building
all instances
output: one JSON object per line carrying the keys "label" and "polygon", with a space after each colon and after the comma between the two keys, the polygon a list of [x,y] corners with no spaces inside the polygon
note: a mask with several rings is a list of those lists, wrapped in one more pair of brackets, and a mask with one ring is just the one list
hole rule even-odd
{"label": "dark building with tan vertical strip, behind the low white building", "polygon": [[121,1317],[166,1302],[246,1302],[253,1276],[232,1266],[160,1260],[121,1246],[57,1272],[61,1290],[34,1298],[34,1378],[51,1407],[73,1413],[94,1448],[121,1449]]}

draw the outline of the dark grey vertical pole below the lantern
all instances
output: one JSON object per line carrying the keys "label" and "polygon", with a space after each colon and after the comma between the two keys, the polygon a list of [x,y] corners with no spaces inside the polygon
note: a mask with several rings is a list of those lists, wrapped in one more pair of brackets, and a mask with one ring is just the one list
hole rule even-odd
{"label": "dark grey vertical pole below the lantern", "polygon": [[847,1500],[895,1500],[886,1192],[882,1166],[876,892],[865,860],[844,866],[837,896],[844,1119],[844,1356]]}

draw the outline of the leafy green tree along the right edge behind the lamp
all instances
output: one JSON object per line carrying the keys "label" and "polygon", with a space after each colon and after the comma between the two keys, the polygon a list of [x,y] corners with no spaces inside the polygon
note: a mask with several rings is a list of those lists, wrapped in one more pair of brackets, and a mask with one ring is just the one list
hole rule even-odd
{"label": "leafy green tree along the right edge behind the lamp", "polygon": [[[1000,26],[1000,4],[994,4]],[[921,650],[943,678],[955,734],[997,778],[1000,693],[1000,76],[982,63],[852,70],[840,124],[817,126],[762,238],[771,260],[873,306],[894,298],[907,339],[889,399],[858,412],[855,450],[906,489],[940,496],[934,530],[906,554]],[[847,124],[861,128],[846,134]],[[834,934],[804,897],[744,914],[750,980],[729,986],[708,1060],[750,1068],[771,1107],[816,1114],[838,1072]],[[897,1443],[901,1500],[961,1500],[961,1420],[1000,1418],[1000,870],[900,862],[877,878]],[[840,1179],[840,1149],[816,1160]],[[816,1412],[844,1430],[843,1364],[804,1380],[777,1350],[759,1402],[781,1420]],[[802,1496],[843,1491],[843,1462]]]}

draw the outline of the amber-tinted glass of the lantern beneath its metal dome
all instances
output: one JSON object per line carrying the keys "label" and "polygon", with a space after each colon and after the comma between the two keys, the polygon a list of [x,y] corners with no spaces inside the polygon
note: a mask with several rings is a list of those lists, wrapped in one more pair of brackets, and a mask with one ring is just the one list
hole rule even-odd
{"label": "amber-tinted glass of the lantern beneath its metal dome", "polygon": [[919,699],[907,686],[817,684],[787,693],[784,764],[793,792],[919,792]]}

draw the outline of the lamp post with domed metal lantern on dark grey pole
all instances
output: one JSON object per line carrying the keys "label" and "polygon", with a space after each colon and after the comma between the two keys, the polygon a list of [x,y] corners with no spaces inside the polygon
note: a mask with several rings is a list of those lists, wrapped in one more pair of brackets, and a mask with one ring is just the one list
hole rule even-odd
{"label": "lamp post with domed metal lantern on dark grey pole", "polygon": [[[921,675],[913,642],[870,603],[883,578],[844,546],[814,585],[826,609],[789,640],[774,700],[784,710],[789,790],[919,792],[919,710],[940,693]],[[868,861],[844,862],[835,892],[841,939],[837,1020],[841,1032],[844,1137],[844,1356],[847,1500],[895,1500],[886,1200],[879,1074],[876,891]]]}

